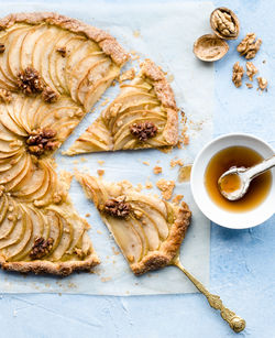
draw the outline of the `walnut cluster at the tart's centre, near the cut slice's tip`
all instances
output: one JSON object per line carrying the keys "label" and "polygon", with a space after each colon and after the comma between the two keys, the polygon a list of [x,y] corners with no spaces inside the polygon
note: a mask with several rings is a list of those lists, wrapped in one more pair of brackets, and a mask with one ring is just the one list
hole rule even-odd
{"label": "walnut cluster at the tart's centre, near the cut slice's tip", "polygon": [[56,131],[50,128],[33,130],[26,139],[28,150],[34,155],[42,155],[47,151],[53,151],[58,146],[55,141]]}

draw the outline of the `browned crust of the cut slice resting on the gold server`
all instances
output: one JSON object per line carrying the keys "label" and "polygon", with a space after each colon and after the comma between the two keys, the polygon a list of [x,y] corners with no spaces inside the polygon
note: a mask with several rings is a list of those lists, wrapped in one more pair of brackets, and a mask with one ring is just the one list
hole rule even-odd
{"label": "browned crust of the cut slice resting on the gold server", "polygon": [[147,254],[141,262],[131,264],[134,274],[140,275],[151,270],[157,270],[172,264],[179,251],[191,219],[191,211],[186,203],[182,203],[177,218],[170,228],[167,240],[158,251]]}

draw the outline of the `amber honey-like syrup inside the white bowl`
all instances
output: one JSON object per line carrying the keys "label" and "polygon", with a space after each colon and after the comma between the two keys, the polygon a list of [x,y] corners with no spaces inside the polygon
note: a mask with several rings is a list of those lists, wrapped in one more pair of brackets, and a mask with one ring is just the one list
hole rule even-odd
{"label": "amber honey-like syrup inside the white bowl", "polygon": [[[249,211],[261,205],[267,197],[272,186],[271,172],[255,177],[251,182],[248,193],[239,200],[224,198],[219,190],[218,179],[232,166],[251,167],[263,160],[257,152],[246,146],[226,148],[213,155],[206,168],[205,185],[215,204],[233,212]],[[223,183],[224,190],[229,193],[240,187],[240,178],[235,177],[237,175],[231,176]]]}

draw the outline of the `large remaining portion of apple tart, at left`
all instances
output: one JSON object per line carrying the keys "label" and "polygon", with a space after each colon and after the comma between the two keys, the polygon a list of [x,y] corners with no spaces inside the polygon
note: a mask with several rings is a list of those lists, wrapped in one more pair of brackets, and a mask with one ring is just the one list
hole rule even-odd
{"label": "large remaining portion of apple tart, at left", "polygon": [[128,54],[106,32],[55,13],[0,20],[0,263],[67,275],[99,263],[54,152]]}

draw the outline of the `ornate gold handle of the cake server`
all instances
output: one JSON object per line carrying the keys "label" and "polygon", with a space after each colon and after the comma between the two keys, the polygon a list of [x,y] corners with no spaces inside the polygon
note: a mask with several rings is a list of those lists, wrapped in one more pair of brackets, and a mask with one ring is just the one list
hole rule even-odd
{"label": "ornate gold handle of the cake server", "polygon": [[233,313],[231,309],[227,308],[222,304],[222,301],[218,295],[212,295],[208,290],[206,290],[206,287],[182,265],[179,257],[175,259],[173,264],[178,269],[180,269],[186,274],[186,276],[193,282],[193,284],[198,288],[198,291],[200,291],[207,297],[207,301],[211,307],[220,310],[221,317],[226,321],[228,321],[232,330],[234,330],[235,332],[241,332],[245,328],[245,320],[237,316],[237,314]]}

